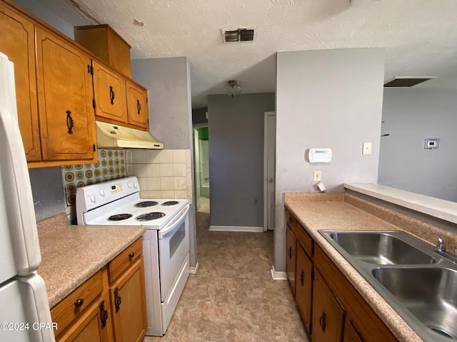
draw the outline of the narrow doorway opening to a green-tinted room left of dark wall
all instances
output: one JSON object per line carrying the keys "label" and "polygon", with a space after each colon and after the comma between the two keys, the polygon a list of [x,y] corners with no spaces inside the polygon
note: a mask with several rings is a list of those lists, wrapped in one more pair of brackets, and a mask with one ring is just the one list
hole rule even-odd
{"label": "narrow doorway opening to a green-tinted room left of dark wall", "polygon": [[[209,212],[209,128],[194,127],[196,209]],[[201,207],[201,206],[204,207]]]}

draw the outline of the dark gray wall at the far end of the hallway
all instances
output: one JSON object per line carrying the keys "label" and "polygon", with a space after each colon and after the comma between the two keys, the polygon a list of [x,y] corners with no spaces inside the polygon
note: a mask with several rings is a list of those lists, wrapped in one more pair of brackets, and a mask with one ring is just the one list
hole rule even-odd
{"label": "dark gray wall at the far end of the hallway", "polygon": [[209,95],[211,225],[263,227],[263,113],[273,93]]}

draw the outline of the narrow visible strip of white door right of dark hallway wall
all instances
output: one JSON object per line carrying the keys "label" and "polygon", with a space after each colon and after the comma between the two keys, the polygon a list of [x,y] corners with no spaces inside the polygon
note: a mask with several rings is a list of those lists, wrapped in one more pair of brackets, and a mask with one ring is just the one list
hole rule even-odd
{"label": "narrow visible strip of white door right of dark hallway wall", "polygon": [[263,231],[274,229],[276,113],[266,112],[263,134]]}

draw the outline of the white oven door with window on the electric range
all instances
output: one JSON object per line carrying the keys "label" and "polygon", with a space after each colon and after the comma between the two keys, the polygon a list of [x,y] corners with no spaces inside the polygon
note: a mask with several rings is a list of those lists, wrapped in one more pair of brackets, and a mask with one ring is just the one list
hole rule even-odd
{"label": "white oven door with window on the electric range", "polygon": [[159,230],[161,301],[165,301],[189,254],[189,205]]}

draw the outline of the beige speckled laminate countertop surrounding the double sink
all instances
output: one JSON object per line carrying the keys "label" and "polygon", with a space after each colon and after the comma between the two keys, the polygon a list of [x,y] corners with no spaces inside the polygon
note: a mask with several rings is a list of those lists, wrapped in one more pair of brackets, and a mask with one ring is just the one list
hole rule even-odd
{"label": "beige speckled laminate countertop surrounding the double sink", "polygon": [[[328,254],[336,266],[338,266],[338,269],[353,284],[382,321],[386,323],[386,326],[391,329],[398,340],[408,342],[423,341],[408,323],[403,321],[403,318],[398,316],[396,311],[363,279],[363,276],[318,232],[318,229],[404,229],[388,223],[348,202],[344,202],[344,194],[328,194],[328,197],[300,197],[297,194],[284,195],[284,204],[286,207],[298,219],[298,222],[306,227],[306,230],[313,237],[314,241]],[[413,232],[410,233],[414,234]]]}

